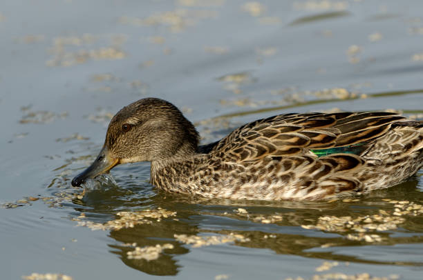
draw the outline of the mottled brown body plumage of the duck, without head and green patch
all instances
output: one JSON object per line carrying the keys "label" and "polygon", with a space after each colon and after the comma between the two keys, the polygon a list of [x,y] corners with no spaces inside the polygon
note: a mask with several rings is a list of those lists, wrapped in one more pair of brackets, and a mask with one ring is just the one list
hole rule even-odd
{"label": "mottled brown body plumage of the duck, without head and green patch", "polygon": [[[171,192],[265,200],[327,199],[388,188],[422,165],[423,132],[411,127],[391,129],[402,119],[389,112],[282,114],[261,119],[234,130],[194,161],[162,169],[153,164],[152,183]],[[362,155],[318,158],[310,152],[361,142],[370,142]],[[392,170],[387,172],[387,166]],[[171,172],[173,168],[178,172]],[[189,180],[178,183],[182,178]]]}

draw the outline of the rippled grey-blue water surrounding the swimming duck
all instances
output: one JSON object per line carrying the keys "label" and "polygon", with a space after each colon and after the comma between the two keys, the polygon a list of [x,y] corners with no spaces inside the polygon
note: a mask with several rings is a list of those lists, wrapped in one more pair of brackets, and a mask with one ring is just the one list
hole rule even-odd
{"label": "rippled grey-blue water surrounding the swimming duck", "polygon": [[[395,216],[400,208],[387,200],[421,205],[422,170],[395,188],[313,203],[169,195],[149,185],[148,163],[114,168],[116,184],[84,196],[70,180],[97,155],[111,115],[143,97],[181,108],[204,143],[281,112],[393,109],[421,118],[422,8],[417,0],[2,1],[1,279],[421,279],[422,214]],[[176,214],[120,230],[77,226],[158,208]],[[313,228],[325,217],[362,228],[379,210],[388,214],[378,225],[395,228],[364,232],[370,237]],[[180,234],[243,239],[194,247]],[[129,259],[129,243],[173,249]]]}

